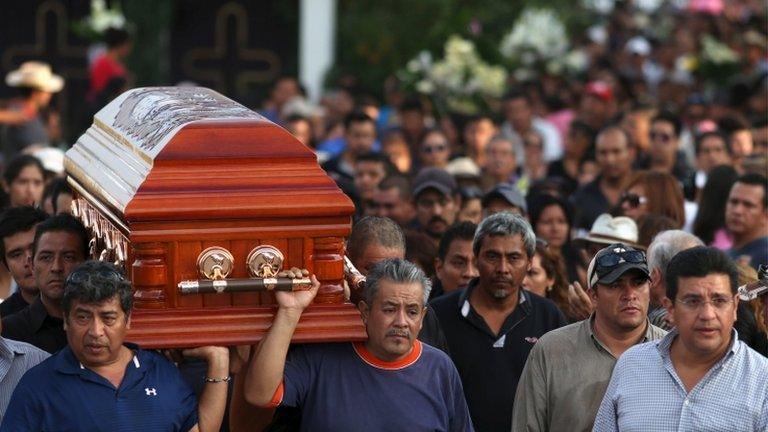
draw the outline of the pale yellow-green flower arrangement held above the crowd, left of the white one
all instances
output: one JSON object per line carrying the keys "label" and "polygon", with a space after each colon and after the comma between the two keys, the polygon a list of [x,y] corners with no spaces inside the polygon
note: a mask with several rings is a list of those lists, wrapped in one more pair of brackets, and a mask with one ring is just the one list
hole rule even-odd
{"label": "pale yellow-green flower arrangement held above the crowd, left of the white one", "polygon": [[432,99],[438,110],[477,114],[504,93],[507,73],[486,63],[472,41],[448,38],[442,59],[427,51],[410,60],[398,77],[416,92]]}

